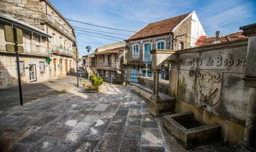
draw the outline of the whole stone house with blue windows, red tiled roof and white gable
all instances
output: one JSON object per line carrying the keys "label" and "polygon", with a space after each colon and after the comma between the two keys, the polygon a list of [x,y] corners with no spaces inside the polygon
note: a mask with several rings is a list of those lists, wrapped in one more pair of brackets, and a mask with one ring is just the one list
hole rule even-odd
{"label": "whole stone house with blue windows, red tiled roof and white gable", "polygon": [[[196,39],[205,35],[195,11],[150,23],[126,39],[129,50],[126,55],[125,71],[132,74],[131,77],[137,81],[137,74],[145,76],[146,63],[149,67],[151,65],[150,50],[179,50],[195,47]],[[151,76],[150,73],[147,75]]]}

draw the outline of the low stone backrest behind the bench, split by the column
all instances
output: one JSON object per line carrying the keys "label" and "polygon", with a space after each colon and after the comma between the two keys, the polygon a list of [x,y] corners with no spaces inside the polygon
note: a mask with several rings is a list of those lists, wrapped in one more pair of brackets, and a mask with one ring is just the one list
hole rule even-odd
{"label": "low stone backrest behind the bench, split by the column", "polygon": [[[139,76],[138,77],[138,82],[140,84],[143,84],[143,85],[147,86],[150,89],[153,89],[153,82],[154,82],[153,78]],[[158,87],[159,87],[160,92],[163,92],[164,94],[168,94],[168,92],[169,92],[169,81],[160,79]]]}

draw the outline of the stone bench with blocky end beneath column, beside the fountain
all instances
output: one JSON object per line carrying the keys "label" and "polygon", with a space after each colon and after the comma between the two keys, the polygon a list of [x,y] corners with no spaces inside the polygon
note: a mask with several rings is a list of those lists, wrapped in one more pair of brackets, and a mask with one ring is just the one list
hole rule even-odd
{"label": "stone bench with blocky end beneath column, beside the fountain", "polygon": [[[135,92],[150,100],[151,95],[153,94],[153,90],[135,82],[132,83],[132,87]],[[163,94],[161,92],[159,92],[159,98],[160,100],[157,100],[156,102],[151,102],[150,100],[150,108],[148,110],[149,113],[154,117],[174,113],[176,98],[172,97],[171,95]]]}

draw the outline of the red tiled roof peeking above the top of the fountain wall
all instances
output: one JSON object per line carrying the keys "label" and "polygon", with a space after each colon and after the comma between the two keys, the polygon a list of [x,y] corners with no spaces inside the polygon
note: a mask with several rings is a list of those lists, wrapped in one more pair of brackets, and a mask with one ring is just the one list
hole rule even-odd
{"label": "red tiled roof peeking above the top of the fountain wall", "polygon": [[[228,42],[228,41],[236,41],[238,39],[244,39],[245,36],[242,35],[242,32],[236,32],[232,34],[227,34],[219,37],[219,42]],[[207,46],[213,44],[215,42],[215,36],[200,36],[198,40],[195,42],[195,46]]]}

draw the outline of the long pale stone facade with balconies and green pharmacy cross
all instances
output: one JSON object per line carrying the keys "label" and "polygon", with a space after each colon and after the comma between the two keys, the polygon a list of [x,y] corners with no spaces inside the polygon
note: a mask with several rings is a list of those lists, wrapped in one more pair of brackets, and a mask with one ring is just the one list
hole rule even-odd
{"label": "long pale stone facade with balconies and green pharmacy cross", "polygon": [[[75,60],[78,54],[74,53],[76,50],[74,30],[48,1],[7,0],[0,2],[0,8],[3,10],[1,14],[7,15],[9,19],[15,18],[23,24],[24,52],[20,54],[20,58],[23,60],[25,74],[22,76],[22,82],[41,82],[75,72]],[[4,25],[6,24],[8,23],[0,23],[0,72],[3,73],[1,88],[17,85],[15,54],[7,52],[5,47],[7,42],[4,40]],[[37,30],[41,30],[41,33]],[[46,57],[52,59],[49,64],[45,62]],[[44,73],[40,67],[45,71]],[[28,72],[31,68],[34,73],[32,77],[35,77],[33,79]]]}

